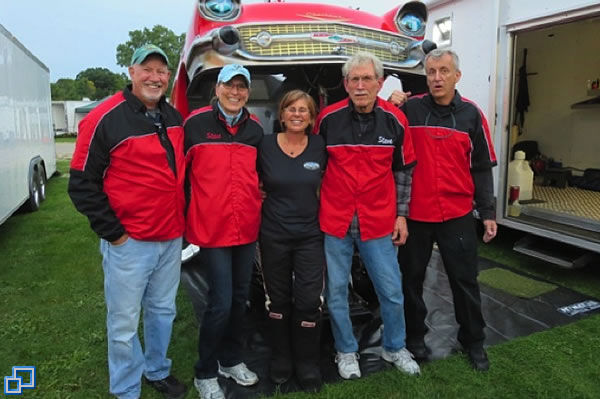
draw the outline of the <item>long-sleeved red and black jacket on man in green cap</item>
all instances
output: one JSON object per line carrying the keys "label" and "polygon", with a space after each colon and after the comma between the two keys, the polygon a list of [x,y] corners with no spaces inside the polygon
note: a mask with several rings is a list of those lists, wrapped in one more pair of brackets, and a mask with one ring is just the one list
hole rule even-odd
{"label": "long-sleeved red and black jacket on man in green cap", "polygon": [[79,123],[69,195],[96,234],[108,241],[124,233],[145,241],[183,235],[182,118],[164,97],[158,109],[160,128],[126,88]]}

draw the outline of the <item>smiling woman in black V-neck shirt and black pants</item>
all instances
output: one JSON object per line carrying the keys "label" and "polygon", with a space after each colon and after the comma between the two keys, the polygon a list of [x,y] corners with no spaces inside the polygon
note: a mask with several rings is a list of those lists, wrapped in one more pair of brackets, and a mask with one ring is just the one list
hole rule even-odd
{"label": "smiling woman in black V-neck shirt and black pants", "polygon": [[258,170],[266,198],[260,247],[269,331],[270,376],[294,372],[303,389],[321,388],[319,344],[325,255],[319,229],[319,187],[326,164],[323,138],[312,135],[310,95],[293,90],[279,104],[282,133],[265,136]]}

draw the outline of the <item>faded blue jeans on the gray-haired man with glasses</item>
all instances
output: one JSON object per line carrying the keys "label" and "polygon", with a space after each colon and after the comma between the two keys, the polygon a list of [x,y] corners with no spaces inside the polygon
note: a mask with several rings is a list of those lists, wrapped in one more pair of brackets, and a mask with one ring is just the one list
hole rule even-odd
{"label": "faded blue jeans on the gray-haired man with glasses", "polygon": [[396,352],[405,346],[404,296],[402,275],[396,258],[396,248],[391,235],[362,241],[360,234],[344,238],[325,234],[327,259],[327,308],[338,352],[358,352],[358,343],[352,331],[348,306],[348,283],[352,267],[353,243],[356,243],[367,273],[373,282],[381,307],[383,329],[382,346]]}

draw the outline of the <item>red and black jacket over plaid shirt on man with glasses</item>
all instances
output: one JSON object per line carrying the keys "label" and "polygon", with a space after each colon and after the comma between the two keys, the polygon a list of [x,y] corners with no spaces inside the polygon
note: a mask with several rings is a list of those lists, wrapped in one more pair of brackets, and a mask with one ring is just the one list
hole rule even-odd
{"label": "red and black jacket over plaid shirt on man with glasses", "polygon": [[361,133],[353,122],[349,98],[326,107],[315,132],[323,135],[329,155],[321,186],[321,230],[344,237],[355,213],[363,240],[391,234],[396,220],[393,171],[416,163],[406,117],[377,98],[374,129]]}

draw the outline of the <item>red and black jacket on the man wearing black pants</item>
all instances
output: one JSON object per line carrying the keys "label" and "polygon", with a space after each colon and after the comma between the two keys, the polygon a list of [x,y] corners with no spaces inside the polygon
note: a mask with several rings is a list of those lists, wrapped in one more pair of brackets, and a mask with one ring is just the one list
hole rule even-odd
{"label": "red and black jacket on the man wearing black pants", "polygon": [[475,198],[482,218],[494,219],[491,168],[497,162],[481,110],[458,91],[448,106],[425,94],[411,97],[403,110],[419,158],[409,218],[443,222],[465,216]]}

